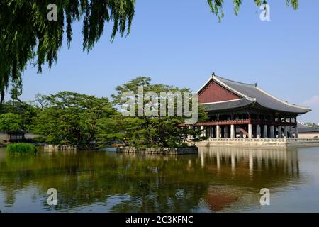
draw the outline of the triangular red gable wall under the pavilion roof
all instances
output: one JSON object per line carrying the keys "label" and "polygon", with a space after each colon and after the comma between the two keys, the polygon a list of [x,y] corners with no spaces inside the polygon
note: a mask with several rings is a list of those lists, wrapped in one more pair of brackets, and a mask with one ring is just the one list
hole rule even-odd
{"label": "triangular red gable wall under the pavilion roof", "polygon": [[240,96],[237,96],[237,94],[230,92],[228,89],[221,87],[213,81],[198,94],[198,103],[200,104],[233,99],[240,99]]}

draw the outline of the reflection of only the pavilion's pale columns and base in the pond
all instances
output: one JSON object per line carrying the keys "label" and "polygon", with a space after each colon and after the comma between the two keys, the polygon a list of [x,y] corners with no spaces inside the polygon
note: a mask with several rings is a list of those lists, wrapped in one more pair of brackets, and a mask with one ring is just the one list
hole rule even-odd
{"label": "reflection of only the pavilion's pale columns and base in the pond", "polygon": [[300,177],[297,148],[201,148],[200,157],[202,167],[208,165],[218,173],[247,174],[251,180],[259,174]]}

